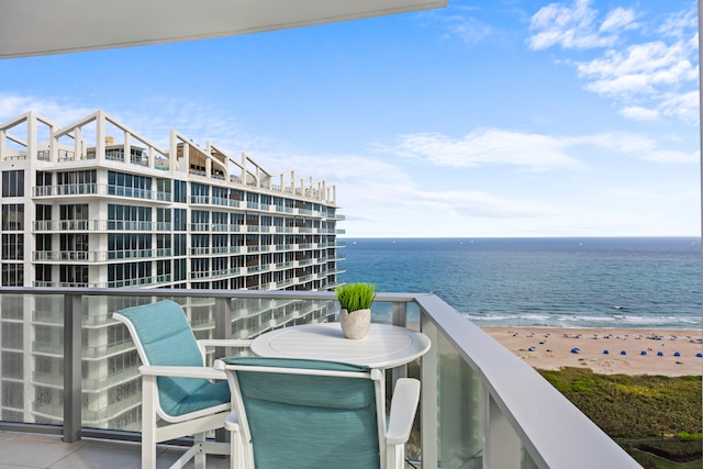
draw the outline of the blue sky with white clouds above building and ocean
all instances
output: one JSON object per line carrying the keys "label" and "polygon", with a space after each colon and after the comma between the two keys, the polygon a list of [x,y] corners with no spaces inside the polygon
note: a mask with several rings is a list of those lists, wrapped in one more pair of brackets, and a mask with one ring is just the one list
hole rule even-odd
{"label": "blue sky with white clouds above building and ocean", "polygon": [[696,4],[449,1],[0,60],[0,122],[102,109],[337,187],[348,237],[699,236]]}

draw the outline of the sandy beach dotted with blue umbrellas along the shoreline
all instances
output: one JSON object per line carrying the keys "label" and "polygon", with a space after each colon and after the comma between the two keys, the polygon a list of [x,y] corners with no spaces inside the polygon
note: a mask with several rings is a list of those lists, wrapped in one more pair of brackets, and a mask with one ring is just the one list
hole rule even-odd
{"label": "sandy beach dotted with blue umbrellas along the shoreline", "polygon": [[603,375],[703,375],[703,357],[696,356],[703,355],[700,330],[483,327],[483,331],[539,369],[583,367]]}

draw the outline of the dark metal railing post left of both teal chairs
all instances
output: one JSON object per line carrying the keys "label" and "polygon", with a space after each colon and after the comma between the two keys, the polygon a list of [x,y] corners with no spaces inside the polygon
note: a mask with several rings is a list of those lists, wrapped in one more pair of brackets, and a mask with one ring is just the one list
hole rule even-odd
{"label": "dark metal railing post left of both teal chairs", "polygon": [[64,297],[64,442],[80,439],[81,421],[81,297]]}

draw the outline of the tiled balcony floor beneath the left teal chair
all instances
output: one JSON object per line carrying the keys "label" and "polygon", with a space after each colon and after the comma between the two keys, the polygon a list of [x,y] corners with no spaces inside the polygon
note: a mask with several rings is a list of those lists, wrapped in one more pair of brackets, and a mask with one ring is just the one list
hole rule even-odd
{"label": "tiled balcony floor beneath the left teal chair", "polygon": [[[59,436],[0,432],[0,469],[138,469],[142,445],[130,442],[81,439],[64,443]],[[159,445],[158,469],[168,468],[185,448]],[[192,461],[186,467],[193,467]],[[230,458],[208,456],[209,469],[228,469]]]}

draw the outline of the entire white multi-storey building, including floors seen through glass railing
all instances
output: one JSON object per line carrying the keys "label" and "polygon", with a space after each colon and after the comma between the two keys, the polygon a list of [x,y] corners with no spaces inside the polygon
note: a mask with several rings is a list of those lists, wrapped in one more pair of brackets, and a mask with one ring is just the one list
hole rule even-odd
{"label": "entire white multi-storey building, including floors seen through glass railing", "polygon": [[[27,112],[0,124],[1,281],[20,287],[327,290],[339,283],[333,186],[170,131],[159,148],[103,111],[59,126]],[[112,312],[150,301],[90,299],[82,312],[83,423],[138,429],[140,365]],[[182,304],[211,338],[214,301]],[[334,315],[328,302],[237,300],[247,338]],[[60,424],[64,305],[0,297],[0,420]],[[26,360],[23,357],[32,357]]]}

